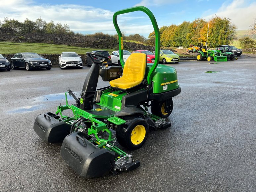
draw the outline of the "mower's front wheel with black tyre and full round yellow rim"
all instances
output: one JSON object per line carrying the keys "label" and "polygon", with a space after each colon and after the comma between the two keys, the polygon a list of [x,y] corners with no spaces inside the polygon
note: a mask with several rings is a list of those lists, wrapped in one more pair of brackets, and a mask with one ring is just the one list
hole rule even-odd
{"label": "mower's front wheel with black tyre and full round yellow rim", "polygon": [[118,143],[129,150],[140,148],[148,138],[149,126],[147,121],[138,116],[127,116],[122,119],[127,122],[119,125],[116,129]]}

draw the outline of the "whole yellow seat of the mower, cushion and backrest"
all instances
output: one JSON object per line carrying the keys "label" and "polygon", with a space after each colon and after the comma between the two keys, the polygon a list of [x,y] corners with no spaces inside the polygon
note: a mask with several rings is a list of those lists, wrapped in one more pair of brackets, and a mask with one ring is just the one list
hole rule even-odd
{"label": "whole yellow seat of the mower, cushion and backrest", "polygon": [[119,89],[129,89],[139,85],[145,77],[146,66],[146,54],[132,53],[125,63],[123,76],[110,81],[110,86]]}

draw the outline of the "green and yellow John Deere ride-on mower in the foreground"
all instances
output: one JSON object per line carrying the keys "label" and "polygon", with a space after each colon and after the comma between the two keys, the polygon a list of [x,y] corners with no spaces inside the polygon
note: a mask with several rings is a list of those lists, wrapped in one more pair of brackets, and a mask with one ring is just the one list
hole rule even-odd
{"label": "green and yellow John Deere ride-on mower in the foreground", "polygon": [[[123,59],[123,37],[117,16],[129,12],[146,13],[155,30],[155,62],[147,64],[147,56],[133,53],[126,63]],[[108,57],[87,52],[93,64],[85,78],[81,97],[67,88],[66,105],[57,107],[55,114],[37,116],[34,131],[44,141],[61,143],[61,156],[81,177],[96,178],[129,171],[140,162],[119,149],[135,150],[147,140],[150,128],[165,129],[173,110],[172,97],[180,93],[177,72],[173,67],[158,65],[160,33],[152,12],[143,6],[118,11],[113,16],[119,36],[119,53],[122,66],[104,66]],[[102,67],[100,67],[102,66]],[[98,77],[109,81],[110,86],[96,90]],[[69,104],[67,95],[76,100]],[[151,113],[149,112],[149,108]],[[72,116],[64,112],[72,112]],[[113,137],[113,130],[116,137]]]}

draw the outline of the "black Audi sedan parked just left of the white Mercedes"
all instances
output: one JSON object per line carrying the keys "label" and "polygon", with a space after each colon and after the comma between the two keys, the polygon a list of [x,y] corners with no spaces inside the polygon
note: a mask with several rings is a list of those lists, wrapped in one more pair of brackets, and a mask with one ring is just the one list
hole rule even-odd
{"label": "black Audi sedan parked just left of the white Mercedes", "polygon": [[16,53],[11,58],[12,69],[25,68],[27,71],[31,69],[50,70],[52,63],[49,59],[45,59],[37,53]]}

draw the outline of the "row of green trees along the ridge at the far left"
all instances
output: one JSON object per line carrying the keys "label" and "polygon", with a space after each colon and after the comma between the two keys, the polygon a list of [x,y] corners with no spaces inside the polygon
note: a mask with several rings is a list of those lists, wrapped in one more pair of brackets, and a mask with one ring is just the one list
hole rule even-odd
{"label": "row of green trees along the ridge at the far left", "polygon": [[47,23],[41,17],[35,21],[26,19],[24,22],[20,22],[15,19],[4,18],[4,21],[0,21],[0,27],[11,28],[17,33],[55,33],[55,34],[69,34],[73,33],[70,30],[68,24],[55,24],[53,21]]}

